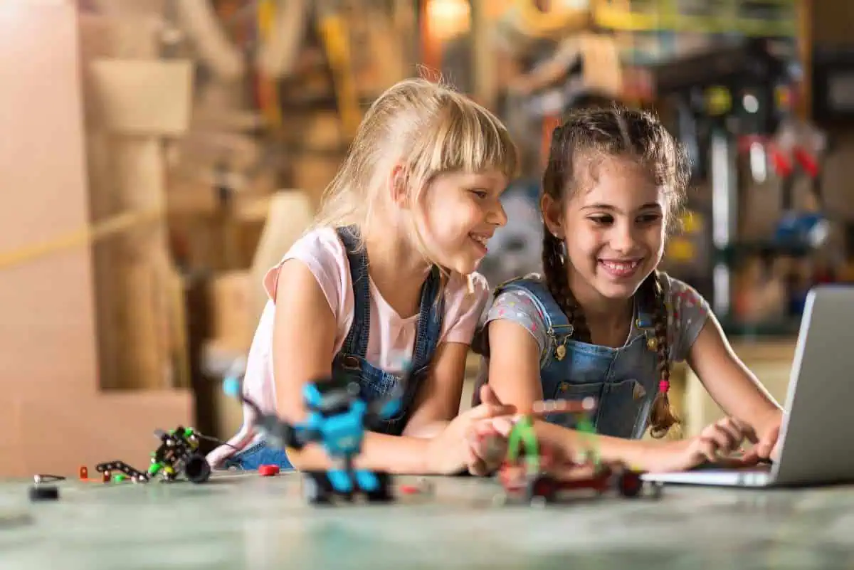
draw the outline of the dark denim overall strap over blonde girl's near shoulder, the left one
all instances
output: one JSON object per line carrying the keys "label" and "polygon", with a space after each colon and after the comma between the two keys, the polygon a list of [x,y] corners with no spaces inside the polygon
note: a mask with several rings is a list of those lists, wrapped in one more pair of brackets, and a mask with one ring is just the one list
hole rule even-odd
{"label": "dark denim overall strap over blonde girl's near shoulder, the left one", "polygon": [[353,283],[353,323],[341,352],[364,357],[371,332],[371,282],[368,276],[368,254],[359,249],[359,230],[354,226],[337,228],[338,237],[347,250],[350,281]]}

